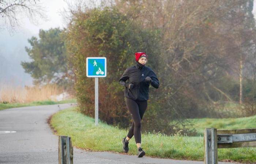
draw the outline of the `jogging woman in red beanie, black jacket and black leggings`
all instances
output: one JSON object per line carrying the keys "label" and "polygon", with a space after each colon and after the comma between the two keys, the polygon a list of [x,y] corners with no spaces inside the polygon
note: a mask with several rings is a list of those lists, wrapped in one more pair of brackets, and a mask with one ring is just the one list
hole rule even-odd
{"label": "jogging woman in red beanie, black jacket and black leggings", "polygon": [[129,67],[119,79],[121,85],[125,86],[124,96],[126,106],[132,114],[132,126],[126,137],[123,138],[123,151],[128,152],[128,141],[134,135],[138,147],[138,157],[143,157],[145,152],[141,148],[140,122],[147,108],[149,85],[158,88],[159,81],[157,75],[150,68],[145,66],[147,55],[144,52],[135,53],[136,65]]}

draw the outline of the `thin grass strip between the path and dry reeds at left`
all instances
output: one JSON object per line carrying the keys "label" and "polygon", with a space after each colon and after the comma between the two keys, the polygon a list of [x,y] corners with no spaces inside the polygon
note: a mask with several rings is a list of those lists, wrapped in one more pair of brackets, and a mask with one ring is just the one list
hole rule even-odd
{"label": "thin grass strip between the path and dry reeds at left", "polygon": [[67,99],[63,101],[34,101],[30,103],[0,103],[0,110],[8,108],[18,108],[22,106],[36,106],[36,105],[53,105],[53,104],[64,104],[64,103],[75,103],[76,99]]}

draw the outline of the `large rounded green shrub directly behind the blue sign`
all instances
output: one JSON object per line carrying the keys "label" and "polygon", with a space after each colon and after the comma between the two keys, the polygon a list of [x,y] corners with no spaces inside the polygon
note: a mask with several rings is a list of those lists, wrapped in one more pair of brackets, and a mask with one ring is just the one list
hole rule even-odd
{"label": "large rounded green shrub directly behind the blue sign", "polygon": [[99,79],[99,118],[127,127],[131,117],[118,79],[135,64],[138,51],[148,54],[150,67],[158,66],[159,31],[142,30],[115,9],[96,8],[75,13],[65,36],[80,112],[94,116],[94,79],[86,77],[86,57],[104,56],[108,73]]}

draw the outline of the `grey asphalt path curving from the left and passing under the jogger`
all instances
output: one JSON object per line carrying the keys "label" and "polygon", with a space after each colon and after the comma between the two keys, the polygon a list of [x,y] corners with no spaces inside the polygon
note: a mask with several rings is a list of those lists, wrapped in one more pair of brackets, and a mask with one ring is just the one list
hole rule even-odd
{"label": "grey asphalt path curving from the left and passing under the jogger", "polygon": [[[53,134],[47,119],[50,115],[70,106],[71,104],[60,104],[1,110],[0,131],[16,131],[16,133],[0,132],[0,164],[57,164],[59,138]],[[74,164],[85,163],[203,164],[204,162],[138,158],[135,155],[87,152],[74,148]],[[224,162],[219,163],[224,164]]]}

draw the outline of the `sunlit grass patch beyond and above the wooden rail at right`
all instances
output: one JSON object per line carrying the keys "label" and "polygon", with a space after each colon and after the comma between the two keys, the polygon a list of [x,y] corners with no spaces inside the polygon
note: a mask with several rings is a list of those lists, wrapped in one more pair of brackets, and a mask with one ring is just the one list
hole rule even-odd
{"label": "sunlit grass patch beyond and above the wooden rail at right", "polygon": [[[218,130],[256,128],[256,115],[241,118],[199,118],[188,119],[188,121],[194,124],[185,126],[185,129],[194,128],[197,134],[202,136],[204,134],[204,128],[217,128]],[[171,122],[171,124],[174,124],[174,122]],[[182,129],[179,125],[177,128]]]}

